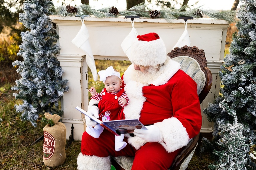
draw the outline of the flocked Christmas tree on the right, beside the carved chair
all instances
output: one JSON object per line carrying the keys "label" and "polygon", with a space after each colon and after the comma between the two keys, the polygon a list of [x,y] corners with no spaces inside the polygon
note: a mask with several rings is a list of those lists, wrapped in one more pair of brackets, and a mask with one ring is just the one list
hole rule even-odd
{"label": "flocked Christmas tree on the right, beside the carved chair", "polygon": [[203,149],[215,155],[210,169],[256,169],[249,156],[256,144],[256,1],[241,2],[238,33],[220,67],[221,95],[204,109],[214,122],[213,141],[203,139]]}

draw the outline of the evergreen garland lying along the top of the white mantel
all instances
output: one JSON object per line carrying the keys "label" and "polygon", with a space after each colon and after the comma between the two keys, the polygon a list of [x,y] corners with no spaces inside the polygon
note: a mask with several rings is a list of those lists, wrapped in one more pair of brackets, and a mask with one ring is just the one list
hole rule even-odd
{"label": "evergreen garland lying along the top of the white mantel", "polygon": [[[83,16],[83,15],[94,15],[95,17],[102,18],[102,17],[119,17],[119,16],[140,16],[140,17],[150,17],[150,11],[146,11],[146,5],[145,3],[138,4],[128,10],[119,11],[118,15],[110,14],[109,10],[111,7],[106,7],[102,9],[92,9],[88,4],[82,4],[75,6],[77,8],[77,13],[69,13],[66,10],[65,6],[57,6],[52,9],[54,11],[54,14],[60,15],[60,16]],[[188,11],[183,11],[184,9],[188,8],[187,5],[181,7],[180,9],[176,10],[174,8],[167,8],[162,9],[160,11],[160,16],[157,18],[164,18],[167,22],[171,22],[172,19],[178,19],[179,17],[195,17],[200,18],[201,16],[198,16],[197,11],[199,8],[191,9]],[[236,11],[214,11],[214,10],[203,10],[200,9],[200,13],[203,15],[206,15],[210,18],[215,19],[221,19],[226,20],[228,22],[234,22],[235,21],[235,14]]]}

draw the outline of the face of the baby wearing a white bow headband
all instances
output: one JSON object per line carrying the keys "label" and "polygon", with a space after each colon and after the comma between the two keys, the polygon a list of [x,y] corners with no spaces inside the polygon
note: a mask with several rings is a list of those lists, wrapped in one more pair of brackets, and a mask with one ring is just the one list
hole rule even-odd
{"label": "face of the baby wearing a white bow headband", "polygon": [[112,75],[107,77],[104,84],[107,92],[115,93],[115,92],[118,92],[122,83],[123,83],[123,80],[121,80],[117,76]]}

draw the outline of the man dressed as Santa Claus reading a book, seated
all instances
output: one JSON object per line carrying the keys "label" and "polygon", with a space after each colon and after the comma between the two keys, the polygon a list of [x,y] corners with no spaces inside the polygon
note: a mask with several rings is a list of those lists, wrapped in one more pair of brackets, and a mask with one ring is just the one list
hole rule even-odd
{"label": "man dressed as Santa Claus reading a book, seated", "polygon": [[[83,133],[79,170],[109,170],[110,156],[134,157],[133,170],[168,169],[189,139],[201,128],[202,117],[197,85],[180,64],[166,55],[163,40],[156,33],[137,36],[129,48],[132,65],[122,79],[130,103],[125,119],[139,119],[147,130],[125,134],[127,146],[115,151],[115,136],[105,130],[99,138]],[[88,112],[98,114],[91,100]],[[93,122],[87,125],[93,126]],[[168,157],[168,159],[166,159]]]}

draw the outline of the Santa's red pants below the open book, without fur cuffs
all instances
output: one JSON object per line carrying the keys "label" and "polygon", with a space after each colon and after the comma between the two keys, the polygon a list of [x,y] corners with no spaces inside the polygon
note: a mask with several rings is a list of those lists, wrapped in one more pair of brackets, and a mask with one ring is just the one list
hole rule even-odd
{"label": "Santa's red pants below the open book, without fur cuffs", "polygon": [[[124,138],[127,142],[127,138]],[[98,157],[132,156],[134,162],[132,170],[166,170],[171,165],[181,149],[168,153],[164,147],[157,142],[148,142],[139,150],[128,144],[120,151],[115,151],[115,135],[103,130],[99,138],[90,136],[86,131],[82,136],[81,152],[83,155],[95,155]]]}

